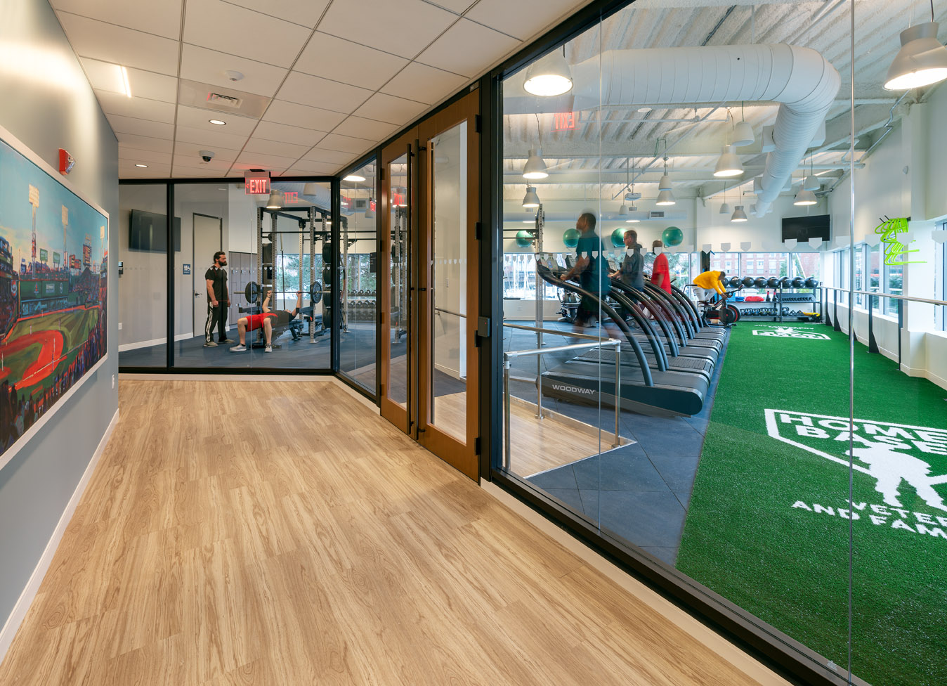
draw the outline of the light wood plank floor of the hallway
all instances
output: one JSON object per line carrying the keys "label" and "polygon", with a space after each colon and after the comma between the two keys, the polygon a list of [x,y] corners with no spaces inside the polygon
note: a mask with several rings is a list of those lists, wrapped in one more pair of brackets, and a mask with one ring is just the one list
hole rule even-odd
{"label": "light wood plank floor of the hallway", "polygon": [[0,684],[760,683],[334,384],[119,407]]}

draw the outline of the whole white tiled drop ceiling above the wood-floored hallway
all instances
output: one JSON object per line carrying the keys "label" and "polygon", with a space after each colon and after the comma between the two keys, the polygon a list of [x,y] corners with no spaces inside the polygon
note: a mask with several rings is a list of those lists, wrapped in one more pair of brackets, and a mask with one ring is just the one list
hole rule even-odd
{"label": "whole white tiled drop ceiling above the wood-floored hallway", "polygon": [[340,171],[587,2],[50,0],[120,178]]}

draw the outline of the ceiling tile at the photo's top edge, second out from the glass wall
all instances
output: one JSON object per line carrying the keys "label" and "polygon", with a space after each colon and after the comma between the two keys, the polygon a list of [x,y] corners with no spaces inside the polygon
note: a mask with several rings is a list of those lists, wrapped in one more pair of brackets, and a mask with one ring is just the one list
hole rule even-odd
{"label": "ceiling tile at the photo's top edge, second out from the glass wall", "polygon": [[456,18],[421,0],[346,0],[332,3],[319,30],[412,58]]}

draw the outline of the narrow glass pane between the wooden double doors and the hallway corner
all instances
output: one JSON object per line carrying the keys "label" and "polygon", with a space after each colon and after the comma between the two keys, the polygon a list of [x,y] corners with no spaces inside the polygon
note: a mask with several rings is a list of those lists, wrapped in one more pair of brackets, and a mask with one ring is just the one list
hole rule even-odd
{"label": "narrow glass pane between the wooden double doors and the hallway corner", "polygon": [[341,240],[344,266],[339,370],[374,394],[378,321],[378,173],[374,161],[342,178]]}

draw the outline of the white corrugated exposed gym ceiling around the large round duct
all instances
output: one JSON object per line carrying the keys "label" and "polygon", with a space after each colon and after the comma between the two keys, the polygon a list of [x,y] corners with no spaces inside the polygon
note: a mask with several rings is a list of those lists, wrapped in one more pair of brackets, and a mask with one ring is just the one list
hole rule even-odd
{"label": "white corrugated exposed gym ceiling around the large round duct", "polygon": [[[938,19],[947,3],[936,2]],[[925,89],[907,93],[898,108],[901,93],[882,87],[888,65],[897,53],[899,33],[911,24],[930,21],[930,5],[924,2],[893,3],[889,0],[854,2],[854,98],[856,163],[884,132],[884,125],[897,125],[908,105],[924,99]],[[849,164],[849,97],[851,84],[851,3],[849,0],[810,2],[717,0],[638,0],[565,45],[566,62],[575,65],[597,60],[601,51],[624,48],[681,47],[700,45],[750,45],[788,43],[821,53],[842,78],[837,99],[826,118],[826,134],[815,141],[811,154],[799,166],[810,167],[825,186],[838,178]],[[941,25],[942,39],[947,29]],[[574,67],[573,67],[574,68]],[[528,150],[542,143],[549,177],[531,182],[544,202],[548,200],[614,201],[615,209],[629,180],[645,199],[657,195],[657,182],[664,172],[662,159],[667,146],[670,177],[679,197],[710,197],[727,188],[733,203],[742,191],[752,192],[753,177],[762,171],[759,132],[774,123],[777,104],[771,102],[701,102],[682,106],[608,105],[575,108],[576,128],[557,130],[557,112],[571,111],[568,96],[543,99],[523,89],[524,74],[513,75],[504,84],[507,114],[504,117],[504,181],[508,201],[522,199],[526,180],[522,170]],[[737,121],[745,117],[757,134],[752,146],[738,149],[744,166],[742,177],[714,178],[717,158],[730,131],[727,107]],[[894,108],[894,109],[892,109]],[[538,133],[539,132],[539,133]],[[604,205],[602,206],[604,209]],[[609,210],[611,211],[611,210]]]}

